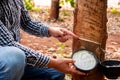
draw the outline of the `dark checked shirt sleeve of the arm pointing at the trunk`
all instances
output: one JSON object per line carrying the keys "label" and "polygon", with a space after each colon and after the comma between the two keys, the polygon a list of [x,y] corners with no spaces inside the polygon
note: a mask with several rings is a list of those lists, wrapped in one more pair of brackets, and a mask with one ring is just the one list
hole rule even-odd
{"label": "dark checked shirt sleeve of the arm pointing at the trunk", "polygon": [[49,26],[41,22],[31,19],[28,11],[21,1],[21,28],[24,31],[40,37],[49,37],[48,27]]}

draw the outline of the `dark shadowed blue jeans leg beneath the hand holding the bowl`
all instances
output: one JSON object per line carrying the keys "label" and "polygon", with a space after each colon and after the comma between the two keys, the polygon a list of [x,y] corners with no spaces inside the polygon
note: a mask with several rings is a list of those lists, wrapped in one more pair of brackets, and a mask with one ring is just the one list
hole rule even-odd
{"label": "dark shadowed blue jeans leg beneath the hand holding the bowl", "polygon": [[65,75],[52,68],[34,68],[26,66],[21,80],[64,80]]}

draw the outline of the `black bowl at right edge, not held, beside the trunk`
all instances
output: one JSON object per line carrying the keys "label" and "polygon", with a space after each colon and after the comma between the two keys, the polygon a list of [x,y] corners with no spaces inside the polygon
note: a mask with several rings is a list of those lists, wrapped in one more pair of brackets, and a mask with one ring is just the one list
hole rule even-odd
{"label": "black bowl at right edge, not held, beside the trunk", "polygon": [[120,76],[120,60],[101,61],[100,70],[108,79],[117,79]]}

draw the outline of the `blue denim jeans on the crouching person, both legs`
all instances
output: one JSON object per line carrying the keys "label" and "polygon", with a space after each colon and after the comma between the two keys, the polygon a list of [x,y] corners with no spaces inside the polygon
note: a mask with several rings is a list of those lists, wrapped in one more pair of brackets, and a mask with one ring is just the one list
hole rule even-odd
{"label": "blue denim jeans on the crouching person, both legs", "polygon": [[64,80],[65,75],[52,68],[26,66],[25,58],[16,47],[0,47],[0,80]]}

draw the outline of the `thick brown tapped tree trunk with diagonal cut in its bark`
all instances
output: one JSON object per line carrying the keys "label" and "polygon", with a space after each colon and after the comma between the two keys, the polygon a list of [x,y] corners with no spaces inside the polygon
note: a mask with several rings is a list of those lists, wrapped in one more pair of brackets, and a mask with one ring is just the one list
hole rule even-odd
{"label": "thick brown tapped tree trunk with diagonal cut in its bark", "polygon": [[[73,32],[80,38],[73,39],[73,52],[82,46],[93,51],[100,60],[104,60],[107,39],[107,0],[76,0]],[[76,80],[76,79],[73,79]],[[95,68],[87,77],[81,80],[104,80],[101,71]]]}

